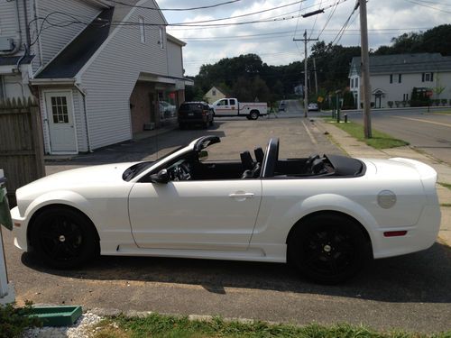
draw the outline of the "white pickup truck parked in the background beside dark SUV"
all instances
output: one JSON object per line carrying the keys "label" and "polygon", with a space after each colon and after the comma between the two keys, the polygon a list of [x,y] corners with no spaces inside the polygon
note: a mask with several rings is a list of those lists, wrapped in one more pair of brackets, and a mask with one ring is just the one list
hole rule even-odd
{"label": "white pickup truck parked in the background beside dark SUV", "polygon": [[266,102],[238,102],[236,98],[221,98],[212,108],[215,116],[245,116],[248,120],[256,120],[268,113]]}

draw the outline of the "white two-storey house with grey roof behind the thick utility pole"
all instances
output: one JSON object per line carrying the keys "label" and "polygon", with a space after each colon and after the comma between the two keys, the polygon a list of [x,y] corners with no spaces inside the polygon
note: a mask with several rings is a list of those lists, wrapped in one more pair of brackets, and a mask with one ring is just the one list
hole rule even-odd
{"label": "white two-storey house with grey roof behind the thick utility pole", "polygon": [[[349,87],[361,106],[360,57],[349,70]],[[388,102],[410,101],[414,87],[433,93],[432,98],[451,99],[451,57],[440,53],[374,55],[370,57],[370,83],[374,108],[388,108]]]}

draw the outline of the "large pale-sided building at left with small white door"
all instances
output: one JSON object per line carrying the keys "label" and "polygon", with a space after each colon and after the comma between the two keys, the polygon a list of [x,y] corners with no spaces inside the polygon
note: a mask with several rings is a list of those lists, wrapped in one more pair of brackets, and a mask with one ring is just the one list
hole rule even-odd
{"label": "large pale-sided building at left with small white door", "polygon": [[46,153],[130,140],[184,101],[185,43],[155,1],[121,3],[0,2],[0,98],[39,98]]}

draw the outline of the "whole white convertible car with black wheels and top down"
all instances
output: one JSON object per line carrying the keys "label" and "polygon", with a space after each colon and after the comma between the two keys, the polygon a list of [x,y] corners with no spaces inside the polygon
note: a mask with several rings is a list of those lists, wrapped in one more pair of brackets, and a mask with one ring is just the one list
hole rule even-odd
{"label": "whole white convertible car with black wheels and top down", "polygon": [[279,140],[207,161],[205,136],[158,161],[73,169],[17,190],[15,245],[55,268],[97,253],[289,261],[336,283],[437,238],[437,173],[416,160],[279,159]]}

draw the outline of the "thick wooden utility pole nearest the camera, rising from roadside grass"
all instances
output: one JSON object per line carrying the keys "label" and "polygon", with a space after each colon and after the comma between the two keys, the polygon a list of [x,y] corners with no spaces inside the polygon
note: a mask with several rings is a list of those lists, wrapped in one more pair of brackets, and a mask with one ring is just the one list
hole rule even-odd
{"label": "thick wooden utility pole nearest the camera, rising from roadside grass", "polygon": [[370,56],[368,54],[368,26],[366,22],[366,0],[358,0],[355,6],[360,5],[360,39],[362,44],[361,71],[362,87],[364,89],[364,136],[365,139],[373,137],[371,131],[371,87],[370,87]]}

